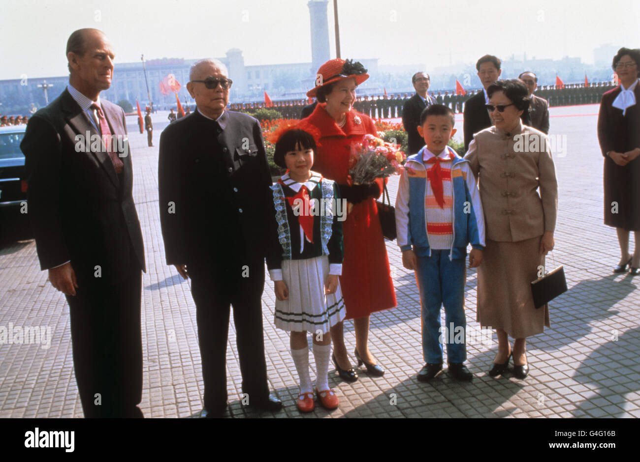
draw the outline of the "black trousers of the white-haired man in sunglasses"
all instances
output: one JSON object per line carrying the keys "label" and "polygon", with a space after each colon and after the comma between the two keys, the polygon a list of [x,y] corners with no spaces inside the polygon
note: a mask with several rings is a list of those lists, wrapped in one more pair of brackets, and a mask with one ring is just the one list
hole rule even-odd
{"label": "black trousers of the white-haired man in sunglasses", "polygon": [[[202,358],[204,408],[220,412],[227,406],[227,335],[230,305],[234,308],[242,391],[249,404],[269,396],[262,330],[264,259],[246,267],[221,268],[213,262],[187,265],[196,304],[198,343]],[[248,276],[248,277],[244,277]]]}

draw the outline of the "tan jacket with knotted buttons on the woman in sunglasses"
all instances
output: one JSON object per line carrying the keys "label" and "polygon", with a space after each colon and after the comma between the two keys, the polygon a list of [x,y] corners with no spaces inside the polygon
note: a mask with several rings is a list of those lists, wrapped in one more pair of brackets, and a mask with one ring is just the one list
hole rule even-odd
{"label": "tan jacket with knotted buttons on the woman in sunglasses", "polygon": [[517,242],[554,231],[557,181],[547,135],[522,123],[512,134],[485,128],[465,158],[479,183],[488,239]]}

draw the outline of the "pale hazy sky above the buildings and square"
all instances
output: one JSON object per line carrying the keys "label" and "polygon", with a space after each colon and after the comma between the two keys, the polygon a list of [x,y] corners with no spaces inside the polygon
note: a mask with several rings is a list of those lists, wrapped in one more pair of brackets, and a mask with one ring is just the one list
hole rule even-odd
{"label": "pale hazy sky above the buildings and square", "polygon": [[[561,59],[593,63],[605,43],[640,47],[640,2],[609,0],[339,0],[342,58],[379,65]],[[335,57],[333,1],[328,3]],[[307,0],[0,0],[0,79],[67,74],[72,31],[102,29],[116,63],[223,57],[243,51],[245,65],[311,61]]]}

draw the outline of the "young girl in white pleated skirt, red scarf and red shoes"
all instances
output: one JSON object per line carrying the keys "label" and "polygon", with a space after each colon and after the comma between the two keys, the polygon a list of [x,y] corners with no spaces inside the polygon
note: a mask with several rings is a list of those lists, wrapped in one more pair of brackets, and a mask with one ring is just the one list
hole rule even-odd
{"label": "young girl in white pleated skirt, red scarf and red shoes", "polygon": [[273,219],[267,266],[275,285],[275,325],[291,332],[291,356],[300,377],[300,412],[311,412],[315,406],[307,332],[313,337],[317,397],[324,408],[338,407],[328,379],[329,329],[345,316],[339,282],[339,218],[344,217],[338,216],[342,208],[337,204],[337,185],[311,171],[315,150],[316,141],[309,132],[285,130],[276,142],[273,160],[287,168],[287,173],[271,186]]}

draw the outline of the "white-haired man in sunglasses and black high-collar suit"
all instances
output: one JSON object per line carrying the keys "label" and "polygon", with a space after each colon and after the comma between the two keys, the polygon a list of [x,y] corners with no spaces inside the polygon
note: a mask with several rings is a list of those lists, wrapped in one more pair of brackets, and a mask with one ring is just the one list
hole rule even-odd
{"label": "white-haired man in sunglasses and black high-collar suit", "polygon": [[261,296],[271,176],[258,121],[225,111],[232,81],[216,59],[191,66],[196,111],[160,137],[160,221],[168,265],[191,279],[204,414],[227,407],[227,334],[234,310],[243,404],[276,411],[264,360]]}

